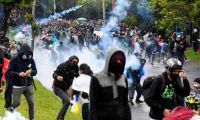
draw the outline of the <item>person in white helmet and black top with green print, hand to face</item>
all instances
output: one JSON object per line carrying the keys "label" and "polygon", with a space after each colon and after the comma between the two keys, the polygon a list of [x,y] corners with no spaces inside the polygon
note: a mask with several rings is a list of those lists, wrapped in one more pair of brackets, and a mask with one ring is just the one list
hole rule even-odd
{"label": "person in white helmet and black top with green print, hand to face", "polygon": [[176,96],[186,97],[189,94],[187,74],[181,62],[175,58],[167,60],[165,72],[151,80],[148,88],[143,84],[143,96],[150,107],[149,116],[156,120],[162,120],[180,104]]}

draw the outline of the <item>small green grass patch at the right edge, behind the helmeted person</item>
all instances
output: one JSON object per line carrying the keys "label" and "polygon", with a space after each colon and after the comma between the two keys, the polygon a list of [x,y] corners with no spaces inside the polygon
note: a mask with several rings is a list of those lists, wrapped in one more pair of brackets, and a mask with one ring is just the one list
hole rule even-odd
{"label": "small green grass patch at the right edge, behind the helmeted person", "polygon": [[188,60],[200,62],[200,52],[198,53],[198,55],[195,55],[192,48],[187,48],[187,50],[185,51],[185,55]]}

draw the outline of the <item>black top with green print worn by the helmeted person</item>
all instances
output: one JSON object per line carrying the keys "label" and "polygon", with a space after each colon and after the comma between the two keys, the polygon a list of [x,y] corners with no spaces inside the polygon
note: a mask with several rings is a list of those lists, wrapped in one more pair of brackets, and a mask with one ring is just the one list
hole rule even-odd
{"label": "black top with green print worn by the helmeted person", "polygon": [[[188,80],[183,80],[181,84],[180,78],[177,80],[168,80],[167,73],[162,74],[163,77],[153,79],[150,87],[145,91],[145,102],[150,107],[149,116],[153,119],[162,120],[164,109],[172,110],[177,105],[176,96],[186,97],[190,94],[190,84]],[[163,85],[164,84],[164,85]]]}

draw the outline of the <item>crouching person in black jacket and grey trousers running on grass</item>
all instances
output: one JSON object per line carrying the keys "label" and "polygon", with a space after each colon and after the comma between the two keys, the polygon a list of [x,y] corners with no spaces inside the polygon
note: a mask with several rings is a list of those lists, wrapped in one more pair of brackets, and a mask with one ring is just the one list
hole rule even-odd
{"label": "crouching person in black jacket and grey trousers running on grass", "polygon": [[53,73],[53,90],[63,103],[56,120],[64,120],[65,114],[70,105],[70,95],[67,94],[67,90],[70,89],[74,77],[79,76],[78,62],[79,59],[77,56],[71,56],[69,60],[58,65],[57,69]]}

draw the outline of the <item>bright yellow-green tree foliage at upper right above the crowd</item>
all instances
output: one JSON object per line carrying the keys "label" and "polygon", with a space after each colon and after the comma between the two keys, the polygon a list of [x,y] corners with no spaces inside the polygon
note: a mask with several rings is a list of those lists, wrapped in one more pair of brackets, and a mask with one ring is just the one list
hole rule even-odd
{"label": "bright yellow-green tree foliage at upper right above the crowd", "polygon": [[174,24],[184,25],[191,22],[191,3],[189,0],[150,0],[149,7],[157,31],[168,36],[173,32]]}

